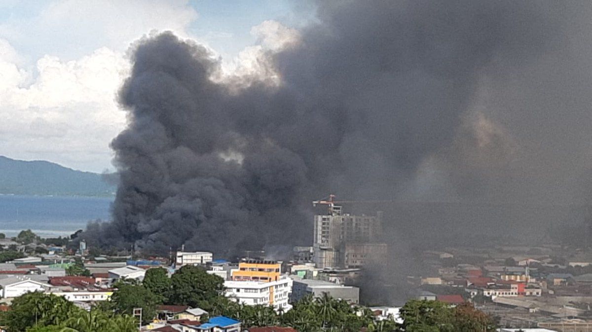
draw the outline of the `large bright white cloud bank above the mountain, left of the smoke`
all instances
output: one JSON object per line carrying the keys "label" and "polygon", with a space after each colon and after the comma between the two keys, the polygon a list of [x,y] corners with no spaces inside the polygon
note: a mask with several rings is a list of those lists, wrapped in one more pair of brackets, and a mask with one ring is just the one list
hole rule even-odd
{"label": "large bright white cloud bank above the mountain, left of the smoke", "polygon": [[0,81],[1,154],[83,170],[107,168],[108,144],[126,123],[115,93],[128,67],[122,53],[108,48],[73,61],[45,56],[37,61],[32,84],[21,87],[27,73],[0,60],[0,73],[12,73]]}

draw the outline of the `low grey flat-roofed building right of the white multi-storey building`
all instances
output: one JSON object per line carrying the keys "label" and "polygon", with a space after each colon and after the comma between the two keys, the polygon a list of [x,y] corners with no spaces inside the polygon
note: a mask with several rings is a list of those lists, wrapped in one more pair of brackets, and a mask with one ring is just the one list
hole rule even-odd
{"label": "low grey flat-roofed building right of the white multi-storey building", "polygon": [[353,303],[358,303],[360,300],[360,289],[358,287],[338,285],[322,280],[294,279],[291,301],[297,302],[308,294],[313,295],[313,297],[321,297],[323,293],[327,293],[335,299]]}

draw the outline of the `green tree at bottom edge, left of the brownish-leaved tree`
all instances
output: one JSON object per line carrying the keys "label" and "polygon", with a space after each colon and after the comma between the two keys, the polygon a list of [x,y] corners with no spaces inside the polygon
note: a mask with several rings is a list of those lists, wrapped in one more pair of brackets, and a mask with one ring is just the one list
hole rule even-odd
{"label": "green tree at bottom edge, left of the brownish-leaved tree", "polygon": [[406,332],[453,332],[453,313],[439,301],[410,300],[401,308],[400,324]]}

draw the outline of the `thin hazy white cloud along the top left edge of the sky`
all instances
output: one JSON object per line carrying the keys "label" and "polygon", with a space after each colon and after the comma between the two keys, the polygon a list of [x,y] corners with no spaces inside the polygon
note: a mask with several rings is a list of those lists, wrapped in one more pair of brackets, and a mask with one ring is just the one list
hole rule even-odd
{"label": "thin hazy white cloud along the top left edge of the sky", "polygon": [[188,0],[62,0],[28,19],[15,15],[0,24],[0,37],[43,54],[81,56],[99,47],[124,51],[151,30],[188,37],[197,12]]}

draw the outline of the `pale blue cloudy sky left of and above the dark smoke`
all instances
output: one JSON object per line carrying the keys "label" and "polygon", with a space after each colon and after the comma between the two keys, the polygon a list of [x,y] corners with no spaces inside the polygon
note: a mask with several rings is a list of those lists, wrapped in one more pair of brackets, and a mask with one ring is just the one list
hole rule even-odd
{"label": "pale blue cloudy sky left of and above the dark smoke", "polygon": [[285,0],[0,0],[0,155],[112,171],[131,43],[170,30],[244,69],[263,35],[302,27],[313,12]]}

